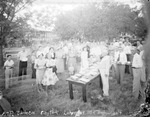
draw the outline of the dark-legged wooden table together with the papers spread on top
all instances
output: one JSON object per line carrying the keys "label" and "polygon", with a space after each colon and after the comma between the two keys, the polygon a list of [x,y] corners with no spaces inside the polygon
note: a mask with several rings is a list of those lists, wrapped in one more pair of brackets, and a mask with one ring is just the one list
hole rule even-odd
{"label": "dark-legged wooden table together with the papers spread on top", "polygon": [[74,98],[73,96],[73,84],[74,84],[74,85],[79,85],[82,87],[82,98],[84,102],[87,102],[86,87],[88,84],[90,84],[93,80],[97,78],[99,78],[99,85],[101,89],[102,81],[101,81],[101,75],[98,69],[89,68],[85,73],[77,73],[74,76],[69,77],[67,81],[69,84],[70,99]]}

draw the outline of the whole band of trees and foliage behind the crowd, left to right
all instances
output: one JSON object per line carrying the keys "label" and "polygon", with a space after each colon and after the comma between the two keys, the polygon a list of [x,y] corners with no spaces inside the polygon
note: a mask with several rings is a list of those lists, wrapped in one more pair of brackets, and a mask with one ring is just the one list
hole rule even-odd
{"label": "whole band of trees and foliage behind the crowd, left to right", "polygon": [[[147,33],[143,7],[131,8],[112,0],[101,3],[79,4],[72,11],[62,12],[57,6],[50,5],[18,16],[34,0],[0,1],[0,60],[2,47],[14,40],[26,43],[33,27],[56,33],[61,39],[105,40],[120,33],[130,33],[143,37]],[[32,27],[32,28],[31,28]],[[1,66],[2,63],[0,63]]]}

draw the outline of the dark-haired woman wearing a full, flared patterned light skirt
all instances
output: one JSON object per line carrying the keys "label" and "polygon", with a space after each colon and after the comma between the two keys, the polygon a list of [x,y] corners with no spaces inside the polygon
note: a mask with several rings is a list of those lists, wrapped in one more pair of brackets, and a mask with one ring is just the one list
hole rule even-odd
{"label": "dark-haired woman wearing a full, flared patterned light skirt", "polygon": [[56,73],[55,73],[55,67],[56,67],[56,60],[53,58],[53,55],[47,56],[46,60],[46,71],[42,80],[42,84],[46,86],[46,92],[48,89],[48,86],[54,86],[56,82],[59,80]]}

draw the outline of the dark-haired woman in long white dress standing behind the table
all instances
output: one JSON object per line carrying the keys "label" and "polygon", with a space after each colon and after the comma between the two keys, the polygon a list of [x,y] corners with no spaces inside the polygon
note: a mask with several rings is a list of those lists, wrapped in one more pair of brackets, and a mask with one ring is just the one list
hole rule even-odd
{"label": "dark-haired woman in long white dress standing behind the table", "polygon": [[84,70],[89,68],[89,60],[88,60],[88,51],[87,47],[83,48],[83,51],[81,52],[81,69],[80,72],[83,72]]}

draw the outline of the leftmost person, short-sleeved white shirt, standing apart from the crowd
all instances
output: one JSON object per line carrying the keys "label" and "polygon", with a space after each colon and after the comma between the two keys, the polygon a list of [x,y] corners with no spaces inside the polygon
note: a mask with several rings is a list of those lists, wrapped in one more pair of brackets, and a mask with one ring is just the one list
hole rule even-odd
{"label": "leftmost person, short-sleeved white shirt, standing apart from the crowd", "polygon": [[4,68],[5,68],[5,89],[9,88],[9,79],[12,78],[13,67],[14,67],[14,61],[11,59],[11,55],[8,55],[7,60],[4,63]]}

